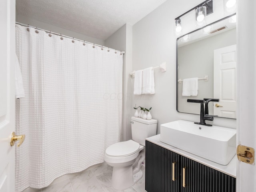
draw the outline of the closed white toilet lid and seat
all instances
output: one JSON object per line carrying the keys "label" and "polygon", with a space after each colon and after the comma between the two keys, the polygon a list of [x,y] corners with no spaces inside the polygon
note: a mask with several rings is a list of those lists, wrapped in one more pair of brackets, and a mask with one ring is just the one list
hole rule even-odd
{"label": "closed white toilet lid and seat", "polygon": [[128,140],[112,144],[106,149],[106,154],[112,157],[126,157],[138,152],[139,149],[139,143]]}

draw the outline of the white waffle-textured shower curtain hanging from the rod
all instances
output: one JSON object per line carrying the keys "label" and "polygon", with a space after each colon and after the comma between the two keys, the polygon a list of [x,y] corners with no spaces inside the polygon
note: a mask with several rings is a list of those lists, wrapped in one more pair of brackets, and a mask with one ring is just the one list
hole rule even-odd
{"label": "white waffle-textured shower curtain hanging from the rod", "polygon": [[16,192],[104,161],[120,140],[122,58],[92,44],[16,25],[25,98],[16,101]]}

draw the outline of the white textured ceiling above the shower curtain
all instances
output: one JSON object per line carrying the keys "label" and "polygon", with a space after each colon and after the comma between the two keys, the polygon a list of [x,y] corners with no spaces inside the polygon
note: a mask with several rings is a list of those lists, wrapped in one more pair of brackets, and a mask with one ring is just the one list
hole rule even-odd
{"label": "white textured ceiling above the shower curtain", "polygon": [[17,13],[105,40],[166,0],[16,0]]}

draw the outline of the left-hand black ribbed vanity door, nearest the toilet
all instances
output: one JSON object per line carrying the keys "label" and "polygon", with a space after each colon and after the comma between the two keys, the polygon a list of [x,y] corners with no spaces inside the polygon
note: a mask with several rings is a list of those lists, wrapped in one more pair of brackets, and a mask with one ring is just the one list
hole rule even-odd
{"label": "left-hand black ribbed vanity door, nearest the toilet", "polygon": [[[174,176],[172,180],[172,163]],[[147,192],[180,192],[180,155],[146,141],[146,177]]]}

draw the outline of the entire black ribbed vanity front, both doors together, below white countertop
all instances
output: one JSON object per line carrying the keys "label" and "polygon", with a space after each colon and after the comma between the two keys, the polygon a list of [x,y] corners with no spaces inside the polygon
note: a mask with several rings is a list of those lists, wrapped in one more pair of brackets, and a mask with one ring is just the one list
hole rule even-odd
{"label": "entire black ribbed vanity front, both doors together, below white countertop", "polygon": [[147,192],[236,192],[236,178],[148,141],[145,178]]}

